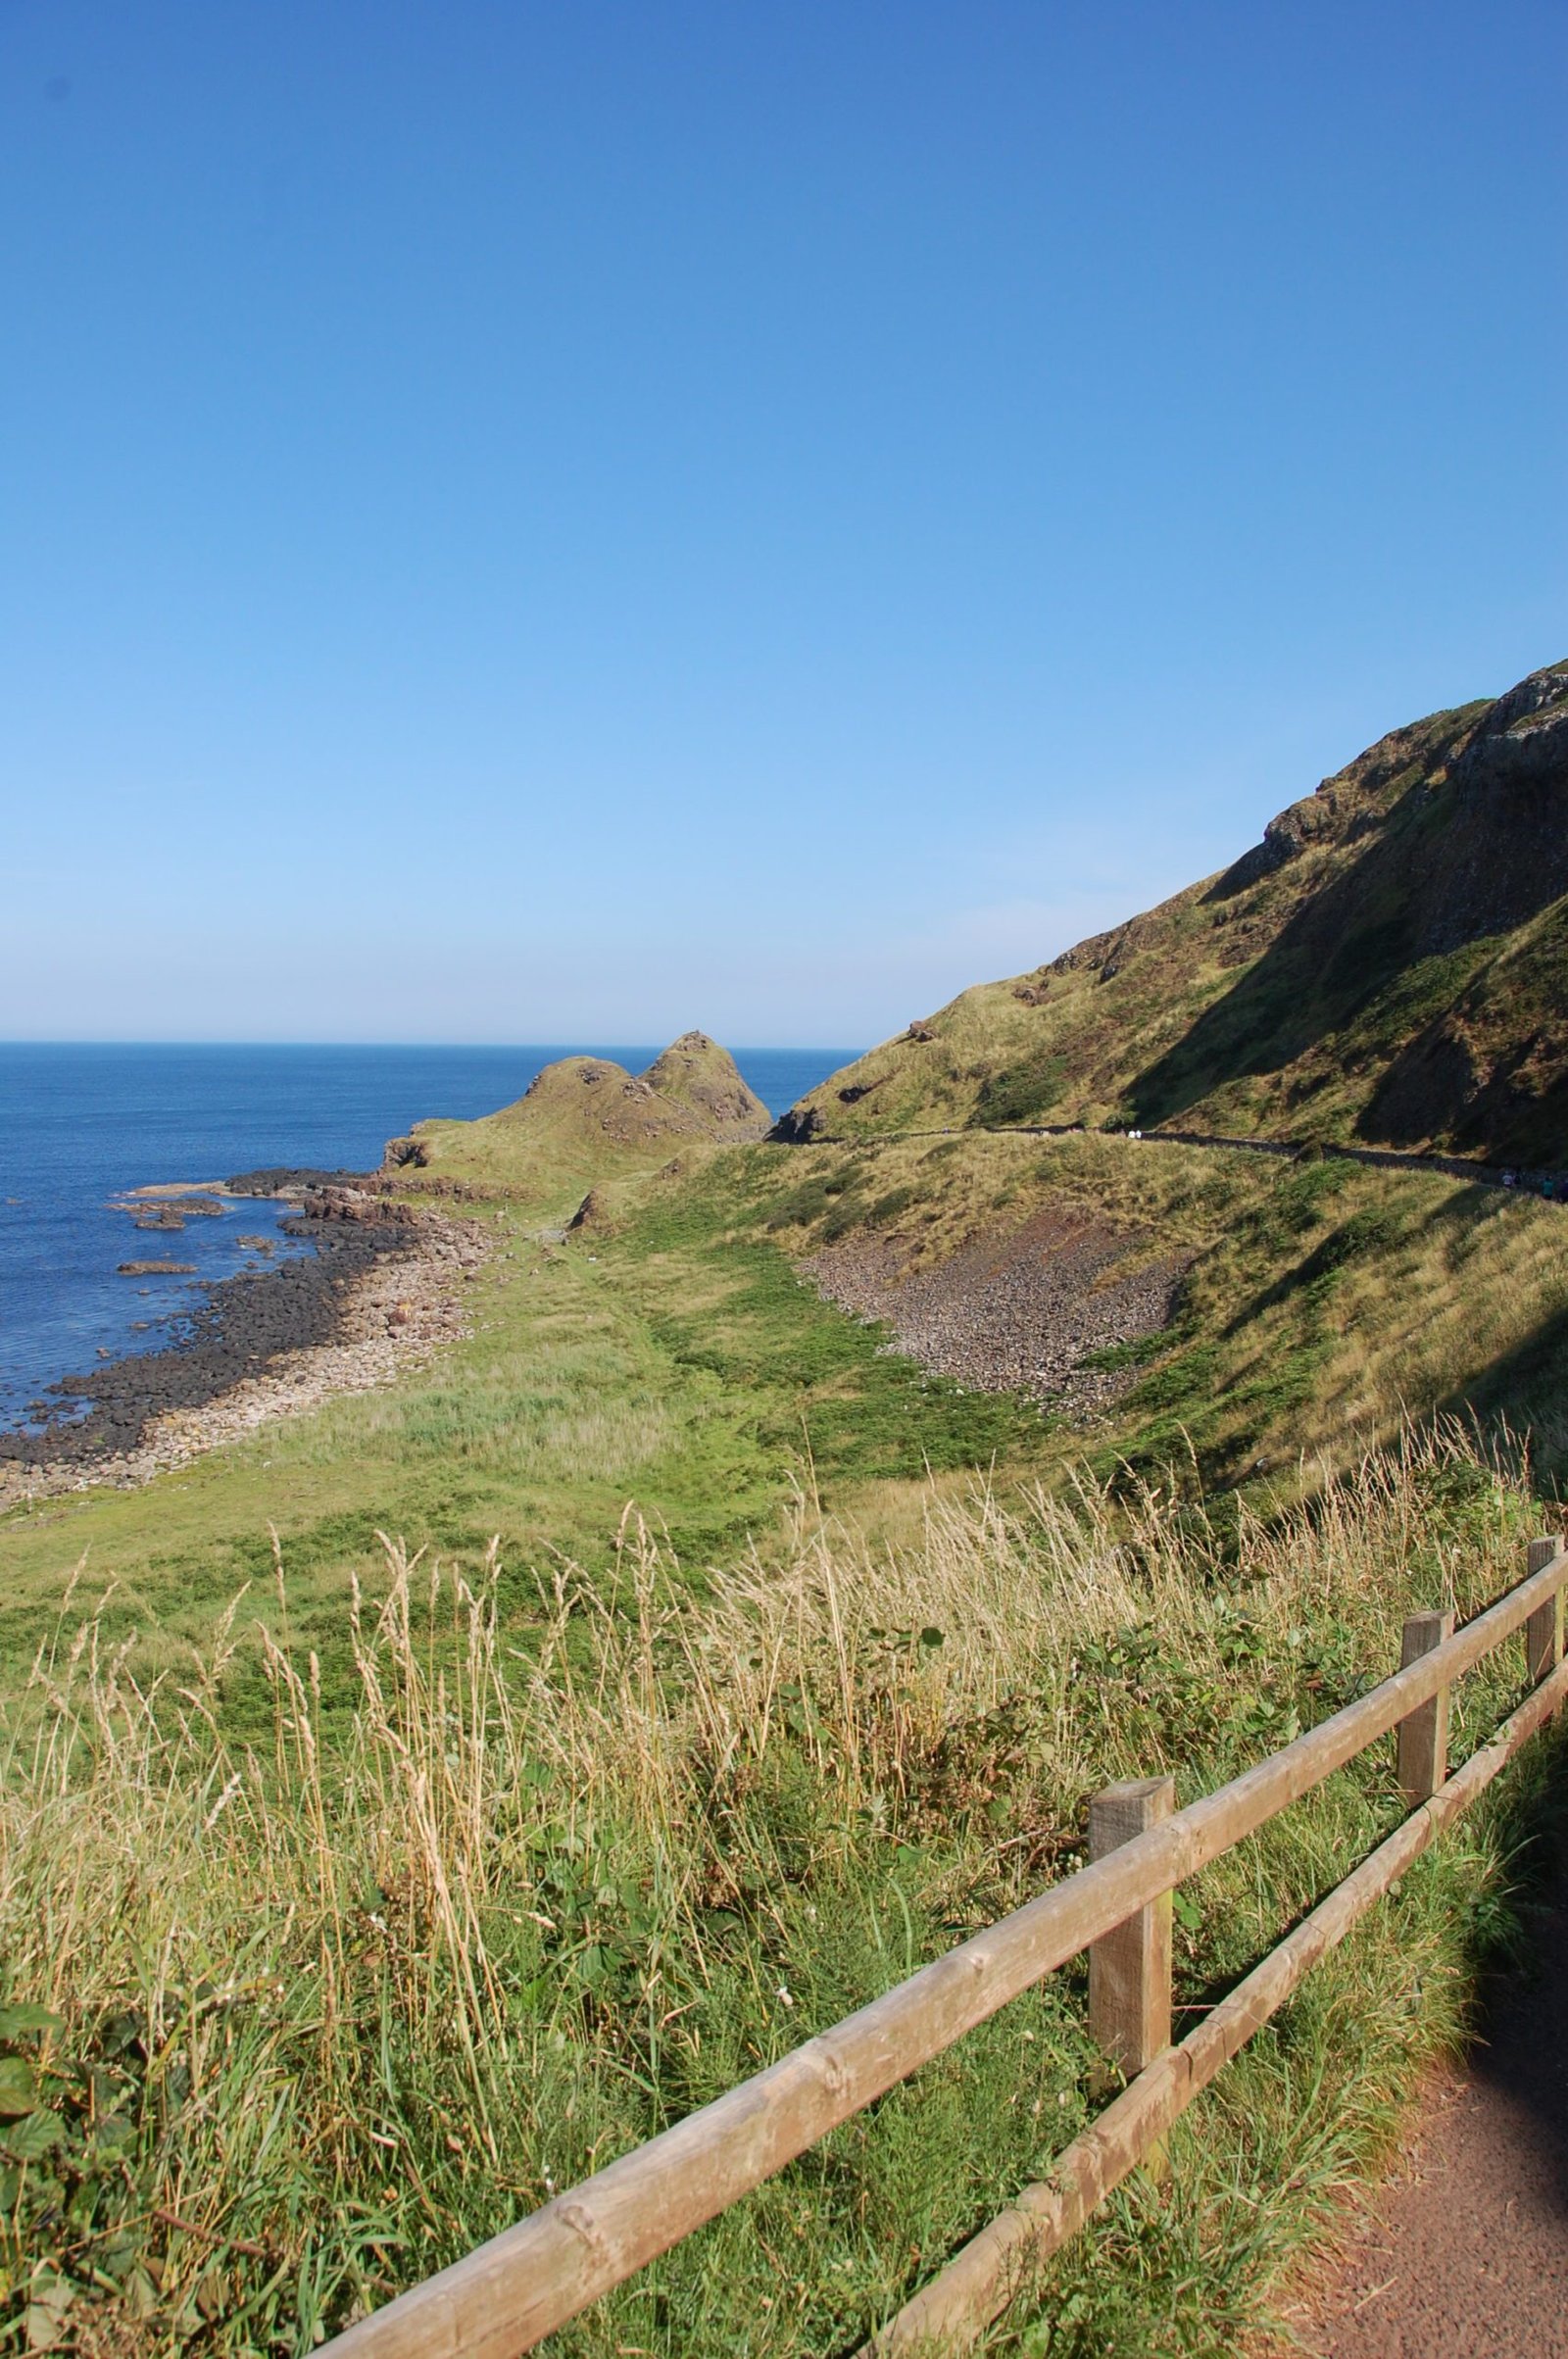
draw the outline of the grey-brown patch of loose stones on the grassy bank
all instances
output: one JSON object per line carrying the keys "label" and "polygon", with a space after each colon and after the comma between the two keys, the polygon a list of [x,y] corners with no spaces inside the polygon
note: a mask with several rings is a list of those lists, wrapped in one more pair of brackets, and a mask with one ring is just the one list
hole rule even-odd
{"label": "grey-brown patch of loose stones on the grassy bank", "polygon": [[887,1319],[898,1349],[922,1368],[976,1392],[1033,1392],[1087,1413],[1125,1392],[1137,1368],[1082,1361],[1170,1326],[1186,1257],[1148,1260],[1148,1243],[1047,1210],[913,1276],[905,1248],[875,1234],[828,1246],[802,1269],[842,1309]]}

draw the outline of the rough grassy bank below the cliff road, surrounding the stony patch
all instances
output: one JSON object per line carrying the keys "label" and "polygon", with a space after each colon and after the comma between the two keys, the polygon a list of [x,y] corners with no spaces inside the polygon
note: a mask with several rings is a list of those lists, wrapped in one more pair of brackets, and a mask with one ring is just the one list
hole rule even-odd
{"label": "rough grassy bank below the cliff road, surrounding the stony patch", "polygon": [[[731,1172],[714,1168],[693,1194]],[[1132,1389],[1101,1427],[1059,1434],[1059,1451],[1155,1467],[1191,1446],[1214,1489],[1278,1479],[1302,1448],[1349,1456],[1434,1406],[1511,1413],[1549,1458],[1568,1439],[1559,1203],[1332,1156],[1101,1135],[788,1149],[743,1175],[747,1220],[792,1253],[879,1234],[920,1269],[1047,1205],[1111,1220],[1148,1255],[1188,1253],[1172,1328],[1120,1352]]]}

